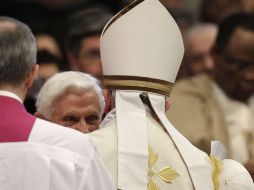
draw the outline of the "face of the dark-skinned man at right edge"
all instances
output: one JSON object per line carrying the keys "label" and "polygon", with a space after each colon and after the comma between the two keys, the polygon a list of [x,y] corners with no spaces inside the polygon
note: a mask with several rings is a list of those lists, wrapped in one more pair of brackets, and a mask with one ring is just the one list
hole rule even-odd
{"label": "face of the dark-skinned man at right edge", "polygon": [[216,82],[232,98],[247,102],[254,92],[254,31],[237,27],[227,45],[217,46],[213,55],[219,63]]}

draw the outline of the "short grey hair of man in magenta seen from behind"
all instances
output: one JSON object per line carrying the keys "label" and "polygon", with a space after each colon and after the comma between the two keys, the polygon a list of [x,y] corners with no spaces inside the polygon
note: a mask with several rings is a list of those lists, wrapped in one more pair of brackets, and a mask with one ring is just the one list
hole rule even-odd
{"label": "short grey hair of man in magenta seen from behind", "polygon": [[17,86],[36,63],[36,41],[24,23],[0,17],[0,83]]}

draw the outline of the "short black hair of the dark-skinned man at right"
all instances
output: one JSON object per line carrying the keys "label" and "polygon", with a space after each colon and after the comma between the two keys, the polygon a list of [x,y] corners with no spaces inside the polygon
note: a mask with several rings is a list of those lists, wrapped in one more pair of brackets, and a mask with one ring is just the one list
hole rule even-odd
{"label": "short black hair of the dark-skinned man at right", "polygon": [[223,51],[237,28],[254,31],[254,15],[238,13],[224,19],[219,25],[215,50]]}

